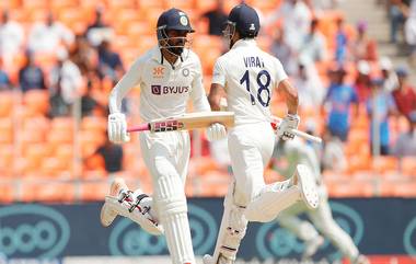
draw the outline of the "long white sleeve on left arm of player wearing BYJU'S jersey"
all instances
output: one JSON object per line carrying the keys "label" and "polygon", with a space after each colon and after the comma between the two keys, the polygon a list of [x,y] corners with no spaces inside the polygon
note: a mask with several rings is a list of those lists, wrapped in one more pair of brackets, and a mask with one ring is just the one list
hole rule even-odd
{"label": "long white sleeve on left arm of player wearing BYJU'S jersey", "polygon": [[141,80],[145,61],[146,59],[143,57],[137,59],[123,76],[122,80],[113,88],[108,99],[109,113],[118,113],[122,111],[123,97]]}

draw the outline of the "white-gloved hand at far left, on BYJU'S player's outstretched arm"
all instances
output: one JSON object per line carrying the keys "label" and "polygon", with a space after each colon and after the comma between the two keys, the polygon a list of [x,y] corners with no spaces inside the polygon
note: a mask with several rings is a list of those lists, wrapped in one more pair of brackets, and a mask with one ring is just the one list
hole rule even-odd
{"label": "white-gloved hand at far left, on BYJU'S player's outstretched arm", "polygon": [[107,124],[108,139],[115,144],[130,141],[130,135],[127,133],[126,116],[122,113],[108,115]]}

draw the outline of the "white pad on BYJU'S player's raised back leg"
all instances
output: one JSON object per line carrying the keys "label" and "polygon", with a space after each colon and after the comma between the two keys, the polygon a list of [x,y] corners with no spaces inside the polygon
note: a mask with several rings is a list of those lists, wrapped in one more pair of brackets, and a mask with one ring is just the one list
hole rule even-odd
{"label": "white pad on BYJU'S player's raised back leg", "polygon": [[140,211],[138,208],[134,208],[130,213],[129,209],[131,208],[131,202],[124,200],[123,203],[119,203],[118,198],[108,195],[105,197],[103,210],[116,211],[117,215],[127,217],[137,222],[142,229],[151,234],[163,234],[163,227],[153,219],[149,211]]}

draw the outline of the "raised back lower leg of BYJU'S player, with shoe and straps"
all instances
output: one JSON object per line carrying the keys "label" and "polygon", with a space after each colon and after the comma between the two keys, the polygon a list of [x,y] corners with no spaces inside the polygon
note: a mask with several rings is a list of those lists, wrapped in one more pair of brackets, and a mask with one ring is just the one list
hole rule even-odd
{"label": "raised back lower leg of BYJU'S player, with shoe and straps", "polygon": [[163,233],[162,226],[158,223],[152,198],[140,188],[135,192],[129,191],[120,177],[115,179],[111,184],[109,195],[105,197],[101,209],[101,223],[108,227],[118,215],[130,218],[152,234]]}

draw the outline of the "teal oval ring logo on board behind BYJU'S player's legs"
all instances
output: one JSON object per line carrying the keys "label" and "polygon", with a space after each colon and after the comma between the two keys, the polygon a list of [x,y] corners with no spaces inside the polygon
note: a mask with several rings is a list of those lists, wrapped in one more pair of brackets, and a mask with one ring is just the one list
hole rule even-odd
{"label": "teal oval ring logo on board behind BYJU'S player's legs", "polygon": [[[188,204],[188,216],[194,251],[204,254],[215,245],[218,230],[216,220],[207,210],[192,204]],[[108,242],[112,255],[167,254],[164,236],[151,236],[126,218],[115,225]]]}

